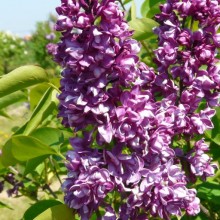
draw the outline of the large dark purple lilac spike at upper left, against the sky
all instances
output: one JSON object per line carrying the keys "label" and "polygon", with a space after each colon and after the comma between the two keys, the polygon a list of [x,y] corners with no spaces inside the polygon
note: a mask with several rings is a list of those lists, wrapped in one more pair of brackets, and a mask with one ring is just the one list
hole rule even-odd
{"label": "large dark purple lilac spike at upper left, against the sky", "polygon": [[128,38],[132,33],[113,1],[62,1],[57,12],[56,29],[63,38],[55,60],[64,67],[59,116],[76,131],[92,124],[100,142],[109,143],[120,86],[140,73],[139,45]]}

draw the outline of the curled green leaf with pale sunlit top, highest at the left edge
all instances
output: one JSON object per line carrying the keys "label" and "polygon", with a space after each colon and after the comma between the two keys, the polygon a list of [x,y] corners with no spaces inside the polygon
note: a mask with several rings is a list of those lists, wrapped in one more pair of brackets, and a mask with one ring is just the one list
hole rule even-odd
{"label": "curled green leaf with pale sunlit top, highest at the left edge", "polygon": [[44,69],[38,66],[22,66],[4,75],[0,79],[0,97],[15,91],[47,82],[48,76]]}

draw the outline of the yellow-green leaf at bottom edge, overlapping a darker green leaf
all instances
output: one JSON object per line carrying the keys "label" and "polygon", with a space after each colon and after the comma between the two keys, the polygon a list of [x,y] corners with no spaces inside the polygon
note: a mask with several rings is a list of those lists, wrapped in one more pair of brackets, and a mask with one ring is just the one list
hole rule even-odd
{"label": "yellow-green leaf at bottom edge, overlapping a darker green leaf", "polygon": [[[35,220],[70,220],[75,219],[74,210],[64,204],[53,206],[35,218]],[[31,220],[31,219],[30,219]]]}

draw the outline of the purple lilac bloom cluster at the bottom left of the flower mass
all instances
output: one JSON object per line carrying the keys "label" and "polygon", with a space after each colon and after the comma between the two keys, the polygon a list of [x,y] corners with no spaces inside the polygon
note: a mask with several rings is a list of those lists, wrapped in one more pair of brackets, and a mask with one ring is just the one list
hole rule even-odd
{"label": "purple lilac bloom cluster at the bottom left of the flower mass", "polygon": [[89,219],[108,192],[114,189],[114,182],[105,166],[103,156],[97,150],[79,147],[83,140],[74,139],[77,150],[67,153],[68,177],[63,183],[65,203],[78,210],[82,219]]}

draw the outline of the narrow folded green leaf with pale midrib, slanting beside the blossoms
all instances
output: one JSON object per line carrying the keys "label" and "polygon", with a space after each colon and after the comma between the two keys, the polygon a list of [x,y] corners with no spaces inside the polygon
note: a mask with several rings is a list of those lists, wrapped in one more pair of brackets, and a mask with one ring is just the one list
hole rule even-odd
{"label": "narrow folded green leaf with pale midrib, slanting beside the blossoms", "polygon": [[57,109],[57,94],[58,92],[55,89],[49,88],[38,103],[29,121],[27,121],[15,134],[30,134],[42,121],[51,115],[52,112]]}

